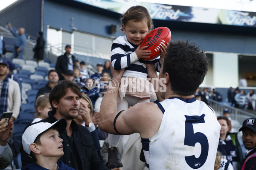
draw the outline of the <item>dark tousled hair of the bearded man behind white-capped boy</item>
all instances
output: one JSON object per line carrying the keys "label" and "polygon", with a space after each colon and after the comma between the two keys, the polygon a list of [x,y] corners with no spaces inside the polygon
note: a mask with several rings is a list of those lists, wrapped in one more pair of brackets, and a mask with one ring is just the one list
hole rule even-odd
{"label": "dark tousled hair of the bearded man behind white-capped boy", "polygon": [[59,81],[54,88],[50,91],[49,94],[49,102],[52,106],[52,113],[56,113],[56,108],[53,107],[52,102],[55,101],[57,104],[60,102],[60,99],[67,94],[67,89],[71,88],[71,90],[79,96],[79,98],[82,97],[80,87],[76,85],[75,83],[69,81],[69,80],[62,80]]}

